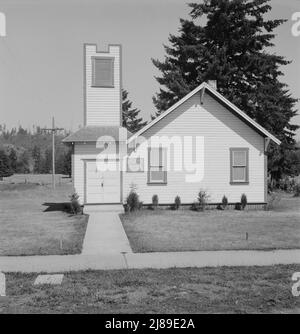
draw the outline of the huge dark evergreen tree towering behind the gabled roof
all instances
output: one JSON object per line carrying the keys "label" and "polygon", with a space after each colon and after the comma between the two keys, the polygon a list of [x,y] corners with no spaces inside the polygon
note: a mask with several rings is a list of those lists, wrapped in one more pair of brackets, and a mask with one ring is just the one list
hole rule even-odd
{"label": "huge dark evergreen tree towering behind the gabled roof", "polygon": [[[192,20],[181,20],[179,35],[170,35],[164,61],[153,60],[164,88],[153,98],[157,117],[204,81],[217,80],[218,91],[277,136],[283,144],[270,147],[269,168],[278,178],[289,173],[287,155],[298,126],[287,85],[280,81],[283,57],[269,53],[273,30],[285,20],[266,20],[269,0],[204,0],[189,4]],[[199,18],[207,23],[199,25]]]}

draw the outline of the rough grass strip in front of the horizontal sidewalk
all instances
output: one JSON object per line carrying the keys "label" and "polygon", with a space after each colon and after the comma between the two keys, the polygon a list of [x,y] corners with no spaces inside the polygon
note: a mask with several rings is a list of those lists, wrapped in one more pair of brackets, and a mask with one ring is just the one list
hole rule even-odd
{"label": "rough grass strip in front of the horizontal sidewalk", "polygon": [[0,313],[300,313],[296,265],[68,273],[61,286],[7,274]]}

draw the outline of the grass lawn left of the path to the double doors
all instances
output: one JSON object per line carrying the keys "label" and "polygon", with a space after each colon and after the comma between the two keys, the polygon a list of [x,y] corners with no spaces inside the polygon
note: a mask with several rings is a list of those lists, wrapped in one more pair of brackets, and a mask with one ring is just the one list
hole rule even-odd
{"label": "grass lawn left of the path to the double doors", "polygon": [[88,217],[64,211],[70,179],[61,178],[55,190],[48,181],[49,175],[17,175],[0,182],[0,256],[81,252]]}

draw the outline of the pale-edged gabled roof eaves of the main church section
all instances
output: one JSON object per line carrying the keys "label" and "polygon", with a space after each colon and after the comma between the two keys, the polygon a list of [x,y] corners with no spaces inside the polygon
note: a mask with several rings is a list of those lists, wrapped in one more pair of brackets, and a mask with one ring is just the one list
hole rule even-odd
{"label": "pale-edged gabled roof eaves of the main church section", "polygon": [[225,106],[230,109],[230,111],[235,114],[237,117],[239,117],[242,121],[244,121],[247,125],[251,126],[254,130],[256,130],[259,134],[261,134],[263,137],[267,137],[271,139],[274,143],[277,145],[281,144],[281,141],[273,136],[269,131],[267,131],[264,127],[259,125],[257,122],[255,122],[251,117],[249,117],[246,113],[244,113],[242,110],[240,110],[238,107],[236,107],[233,103],[228,101],[223,95],[221,95],[219,92],[217,92],[214,88],[212,88],[210,85],[208,85],[206,82],[203,82],[201,85],[199,85],[197,88],[195,88],[193,91],[191,91],[189,94],[184,96],[181,100],[179,100],[177,103],[175,103],[172,107],[170,107],[168,110],[163,112],[161,115],[159,115],[157,118],[155,118],[152,122],[148,123],[146,126],[144,126],[141,130],[136,132],[134,135],[132,135],[128,142],[131,142],[141,134],[143,134],[145,131],[147,131],[149,128],[151,128],[154,124],[158,123],[161,119],[166,117],[168,114],[170,114],[173,110],[175,110],[177,107],[179,107],[182,103],[187,101],[190,97],[198,93],[201,89],[208,90],[216,99],[218,99],[221,103],[225,104]]}

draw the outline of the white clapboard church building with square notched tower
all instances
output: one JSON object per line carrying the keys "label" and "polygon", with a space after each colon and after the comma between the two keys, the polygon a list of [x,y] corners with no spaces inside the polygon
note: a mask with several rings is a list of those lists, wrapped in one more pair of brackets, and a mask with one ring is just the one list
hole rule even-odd
{"label": "white clapboard church building with square notched tower", "polygon": [[[267,200],[270,141],[280,141],[216,89],[202,83],[135,134],[121,127],[121,46],[84,46],[84,127],[73,145],[74,187],[82,204],[124,203],[135,190],[144,204],[193,203],[200,189],[219,203]],[[142,84],[142,83],[141,83]]]}

